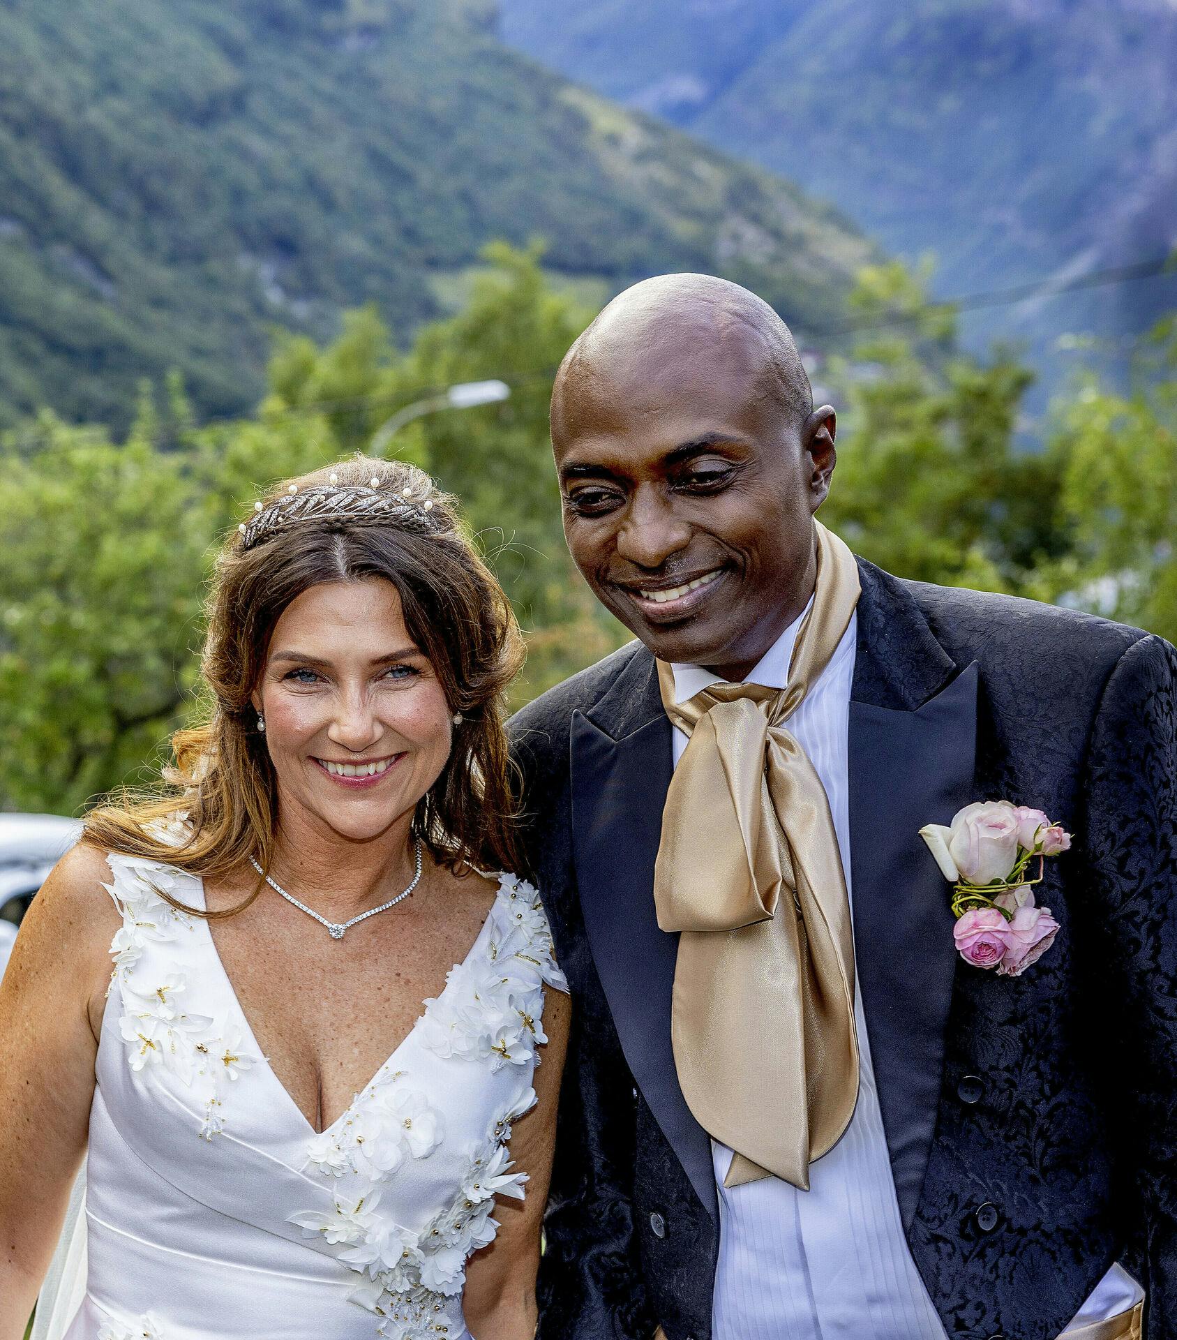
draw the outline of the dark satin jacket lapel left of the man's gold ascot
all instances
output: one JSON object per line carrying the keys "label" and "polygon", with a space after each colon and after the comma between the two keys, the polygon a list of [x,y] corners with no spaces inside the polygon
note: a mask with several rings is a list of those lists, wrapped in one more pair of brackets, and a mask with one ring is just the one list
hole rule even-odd
{"label": "dark satin jacket lapel left of the man's gold ascot", "polygon": [[636,653],[572,721],[576,883],[597,976],[633,1079],[699,1199],[718,1218],[711,1142],[691,1115],[671,1049],[678,935],[659,929],[653,863],[671,780],[671,726],[653,658]]}

